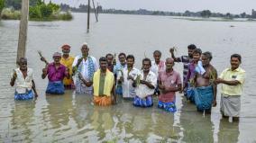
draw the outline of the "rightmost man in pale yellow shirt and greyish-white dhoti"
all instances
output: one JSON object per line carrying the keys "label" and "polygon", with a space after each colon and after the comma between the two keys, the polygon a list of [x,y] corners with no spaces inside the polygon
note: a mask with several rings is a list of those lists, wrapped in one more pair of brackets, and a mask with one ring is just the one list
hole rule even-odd
{"label": "rightmost man in pale yellow shirt and greyish-white dhoti", "polygon": [[239,54],[233,54],[230,58],[231,67],[224,69],[215,84],[221,86],[221,112],[223,117],[233,117],[233,121],[239,121],[241,109],[242,86],[245,79],[245,71],[240,67],[242,58]]}

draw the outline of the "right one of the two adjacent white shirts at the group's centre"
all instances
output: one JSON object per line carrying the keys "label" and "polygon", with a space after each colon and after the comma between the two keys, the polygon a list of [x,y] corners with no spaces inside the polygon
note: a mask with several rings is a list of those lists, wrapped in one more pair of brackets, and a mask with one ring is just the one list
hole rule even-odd
{"label": "right one of the two adjacent white shirts at the group's centre", "polygon": [[[140,73],[140,78],[141,78],[141,80],[144,79],[143,71],[141,71],[141,73]],[[156,88],[157,80],[158,80],[157,76],[153,72],[150,71],[150,73],[146,77],[146,81],[151,83],[151,85],[153,85]],[[135,89],[136,95],[139,96],[140,98],[145,98],[148,95],[154,94],[154,91],[155,91],[154,88],[151,89],[147,85],[142,85],[142,84],[137,85],[137,87]]]}

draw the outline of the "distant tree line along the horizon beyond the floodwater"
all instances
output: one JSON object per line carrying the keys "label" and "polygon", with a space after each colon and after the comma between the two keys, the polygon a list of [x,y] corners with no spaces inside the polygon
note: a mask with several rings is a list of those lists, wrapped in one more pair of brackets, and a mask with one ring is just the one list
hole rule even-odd
{"label": "distant tree line along the horizon beyond the floodwater", "polygon": [[[69,4],[60,4],[60,9],[62,11],[72,11],[78,13],[87,13],[87,4],[80,4],[78,7],[70,7]],[[240,13],[240,14],[233,14],[233,13],[213,13],[210,10],[203,10],[200,12],[190,12],[186,11],[185,13],[174,13],[174,12],[163,12],[163,11],[149,11],[146,9],[139,9],[136,11],[131,10],[117,10],[117,9],[103,9],[101,5],[97,6],[96,9],[98,13],[120,13],[120,14],[143,14],[143,15],[168,15],[168,16],[187,16],[187,17],[222,17],[227,19],[233,18],[256,18],[256,12],[253,10],[251,14],[247,13]],[[92,7],[90,7],[90,11],[94,13]]]}

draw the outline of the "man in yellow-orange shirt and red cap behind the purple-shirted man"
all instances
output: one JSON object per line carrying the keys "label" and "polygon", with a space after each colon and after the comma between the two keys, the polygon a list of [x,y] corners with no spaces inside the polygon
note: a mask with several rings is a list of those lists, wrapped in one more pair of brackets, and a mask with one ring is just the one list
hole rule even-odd
{"label": "man in yellow-orange shirt and red cap behind the purple-shirted man", "polygon": [[[65,44],[61,47],[62,49],[62,57],[60,59],[60,64],[64,65],[65,67],[69,68],[69,75],[72,75],[72,64],[74,62],[74,57],[69,55],[70,46]],[[74,82],[72,78],[64,77],[63,84],[65,89],[74,89]]]}

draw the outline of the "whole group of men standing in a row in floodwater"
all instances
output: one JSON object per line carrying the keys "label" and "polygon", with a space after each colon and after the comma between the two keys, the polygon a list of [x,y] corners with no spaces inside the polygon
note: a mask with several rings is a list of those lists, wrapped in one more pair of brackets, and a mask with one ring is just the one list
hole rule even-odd
{"label": "whole group of men standing in a row in floodwater", "polygon": [[[62,53],[55,52],[53,62],[46,63],[41,78],[49,79],[46,94],[64,94],[65,89],[74,89],[76,94],[93,94],[96,105],[116,103],[116,94],[123,99],[133,100],[134,106],[151,107],[153,95],[158,95],[158,107],[167,112],[176,112],[176,93],[184,93],[198,112],[211,112],[216,106],[217,85],[221,86],[221,112],[224,117],[238,119],[241,108],[242,85],[245,71],[240,67],[242,58],[233,54],[231,67],[218,76],[211,60],[212,53],[203,52],[193,44],[188,45],[187,56],[175,57],[175,49],[169,49],[170,57],[160,60],[160,50],[153,52],[154,60],[142,59],[142,68],[134,67],[133,55],[120,53],[116,62],[115,54],[96,58],[89,55],[87,43],[81,46],[81,55],[69,55],[69,45],[61,47]],[[173,68],[175,62],[184,64],[183,83],[179,73]],[[19,68],[14,69],[10,85],[16,86],[14,99],[28,100],[37,96],[33,82],[32,68],[27,67],[27,59],[21,58]]]}

